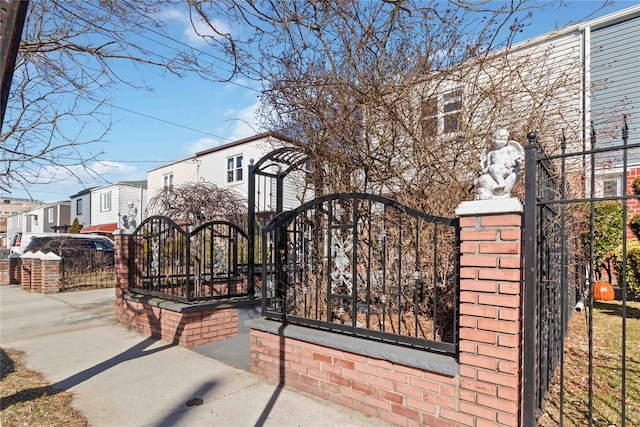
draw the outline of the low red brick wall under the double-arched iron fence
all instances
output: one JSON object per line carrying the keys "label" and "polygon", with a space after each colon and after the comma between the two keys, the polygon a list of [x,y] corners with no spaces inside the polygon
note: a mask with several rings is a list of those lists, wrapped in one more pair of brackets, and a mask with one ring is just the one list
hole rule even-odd
{"label": "low red brick wall under the double-arched iron fence", "polygon": [[200,308],[134,294],[116,298],[116,320],[142,334],[182,347],[238,334],[238,313],[229,306]]}

